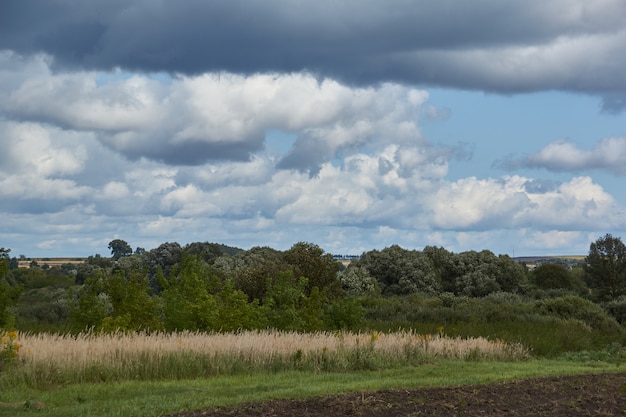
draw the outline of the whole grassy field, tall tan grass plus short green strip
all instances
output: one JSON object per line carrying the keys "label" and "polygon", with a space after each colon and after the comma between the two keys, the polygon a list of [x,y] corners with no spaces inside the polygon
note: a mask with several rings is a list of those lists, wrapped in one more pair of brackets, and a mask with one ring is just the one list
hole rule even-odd
{"label": "whole grassy field, tall tan grass plus short green strip", "polygon": [[618,371],[442,333],[18,334],[0,415],[157,416],[273,398]]}

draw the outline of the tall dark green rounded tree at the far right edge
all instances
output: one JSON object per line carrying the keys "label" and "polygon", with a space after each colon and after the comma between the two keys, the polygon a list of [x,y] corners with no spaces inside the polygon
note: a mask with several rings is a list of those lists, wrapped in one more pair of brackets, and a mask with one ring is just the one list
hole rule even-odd
{"label": "tall dark green rounded tree at the far right edge", "polygon": [[589,287],[600,299],[614,300],[626,294],[626,245],[606,234],[589,246],[585,272]]}

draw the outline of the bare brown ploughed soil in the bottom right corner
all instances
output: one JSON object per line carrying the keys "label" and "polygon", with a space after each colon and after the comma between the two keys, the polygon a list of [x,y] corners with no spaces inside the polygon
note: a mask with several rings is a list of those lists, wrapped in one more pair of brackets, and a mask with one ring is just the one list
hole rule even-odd
{"label": "bare brown ploughed soil in the bottom right corner", "polygon": [[387,390],[242,404],[170,417],[626,416],[626,373]]}

